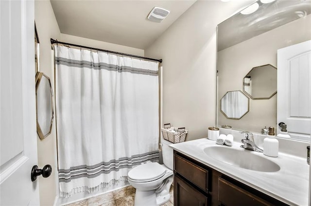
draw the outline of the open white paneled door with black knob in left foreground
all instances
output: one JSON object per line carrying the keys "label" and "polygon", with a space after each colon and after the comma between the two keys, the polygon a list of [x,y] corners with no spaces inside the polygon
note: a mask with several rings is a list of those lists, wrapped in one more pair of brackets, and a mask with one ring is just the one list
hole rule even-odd
{"label": "open white paneled door with black knob in left foreground", "polygon": [[0,0],[0,205],[39,205],[34,1]]}

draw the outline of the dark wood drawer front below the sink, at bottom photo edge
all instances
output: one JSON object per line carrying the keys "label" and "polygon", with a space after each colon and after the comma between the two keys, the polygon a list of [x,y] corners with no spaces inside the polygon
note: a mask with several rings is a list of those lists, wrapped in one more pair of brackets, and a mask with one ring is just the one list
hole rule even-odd
{"label": "dark wood drawer front below the sink, at bottom photo edge", "polygon": [[219,201],[226,206],[272,206],[272,204],[242,188],[218,178]]}

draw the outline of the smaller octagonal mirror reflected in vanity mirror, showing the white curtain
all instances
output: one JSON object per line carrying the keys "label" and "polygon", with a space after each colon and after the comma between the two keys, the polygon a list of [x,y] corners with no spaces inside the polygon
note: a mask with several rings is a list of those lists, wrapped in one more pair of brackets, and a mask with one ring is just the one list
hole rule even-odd
{"label": "smaller octagonal mirror reflected in vanity mirror, showing the white curtain", "polygon": [[241,119],[249,111],[249,98],[242,91],[229,91],[220,100],[221,112],[228,119]]}

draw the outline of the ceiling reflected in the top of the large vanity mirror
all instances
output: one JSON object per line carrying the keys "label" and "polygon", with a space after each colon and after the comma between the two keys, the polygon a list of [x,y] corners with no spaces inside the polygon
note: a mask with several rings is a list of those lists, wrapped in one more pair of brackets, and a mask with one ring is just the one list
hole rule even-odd
{"label": "ceiling reflected in the top of the large vanity mirror", "polygon": [[256,2],[259,4],[256,12],[249,15],[239,12],[218,25],[218,51],[311,14],[311,0]]}

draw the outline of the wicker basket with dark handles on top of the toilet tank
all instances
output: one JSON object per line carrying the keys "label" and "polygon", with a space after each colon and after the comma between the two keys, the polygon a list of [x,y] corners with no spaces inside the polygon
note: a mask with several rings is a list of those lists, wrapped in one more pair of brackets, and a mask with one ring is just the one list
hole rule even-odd
{"label": "wicker basket with dark handles on top of the toilet tank", "polygon": [[164,128],[161,128],[161,131],[164,140],[168,140],[171,143],[184,142],[188,133],[185,127],[171,127],[170,124],[165,124]]}

